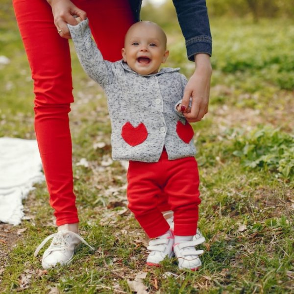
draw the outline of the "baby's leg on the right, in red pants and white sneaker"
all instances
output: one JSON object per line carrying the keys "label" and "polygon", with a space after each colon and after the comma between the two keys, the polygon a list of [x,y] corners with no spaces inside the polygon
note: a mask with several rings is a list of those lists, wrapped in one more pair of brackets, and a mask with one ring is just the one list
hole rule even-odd
{"label": "baby's leg on the right, in red pants and white sneaker", "polygon": [[166,162],[169,181],[165,193],[174,212],[174,253],[180,269],[196,270],[201,261],[198,257],[202,250],[196,251],[195,245],[204,238],[192,241],[196,234],[198,221],[199,176],[194,157]]}

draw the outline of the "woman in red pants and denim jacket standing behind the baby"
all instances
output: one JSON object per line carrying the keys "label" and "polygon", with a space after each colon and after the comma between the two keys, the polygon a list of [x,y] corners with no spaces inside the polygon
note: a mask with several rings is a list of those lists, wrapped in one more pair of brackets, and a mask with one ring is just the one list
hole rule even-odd
{"label": "woman in red pants and denim jacket standing behind the baby", "polygon": [[[35,131],[43,169],[54,209],[58,232],[43,255],[44,268],[68,264],[78,235],[78,214],[73,194],[72,142],[68,113],[73,102],[71,56],[67,24],[73,16],[89,19],[94,39],[104,59],[122,58],[124,35],[139,20],[141,0],[13,0],[15,15],[34,80]],[[189,60],[196,69],[190,78],[182,104],[191,112],[189,122],[200,121],[208,111],[211,77],[211,34],[205,0],[173,0],[186,39]],[[162,196],[161,210],[169,210]]]}

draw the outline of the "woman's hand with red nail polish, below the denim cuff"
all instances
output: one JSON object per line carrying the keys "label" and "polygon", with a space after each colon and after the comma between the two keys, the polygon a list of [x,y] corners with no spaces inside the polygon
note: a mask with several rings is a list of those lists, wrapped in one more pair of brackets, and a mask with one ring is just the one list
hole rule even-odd
{"label": "woman's hand with red nail polish, below the denim cuff", "polygon": [[[212,74],[209,55],[205,53],[196,54],[195,64],[195,72],[186,85],[181,103],[185,108],[183,114],[190,123],[201,121],[208,112],[210,78]],[[190,112],[188,112],[190,97],[192,98],[192,106]]]}

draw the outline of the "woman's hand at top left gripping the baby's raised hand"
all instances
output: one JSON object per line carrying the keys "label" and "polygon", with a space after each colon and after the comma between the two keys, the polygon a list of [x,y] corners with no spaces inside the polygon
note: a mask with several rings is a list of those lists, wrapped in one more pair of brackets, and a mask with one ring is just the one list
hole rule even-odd
{"label": "woman's hand at top left gripping the baby's raised hand", "polygon": [[65,39],[71,39],[67,24],[78,24],[74,16],[78,16],[81,20],[85,20],[87,18],[86,12],[76,7],[70,0],[47,0],[47,2],[51,5],[54,24],[56,25],[59,35]]}

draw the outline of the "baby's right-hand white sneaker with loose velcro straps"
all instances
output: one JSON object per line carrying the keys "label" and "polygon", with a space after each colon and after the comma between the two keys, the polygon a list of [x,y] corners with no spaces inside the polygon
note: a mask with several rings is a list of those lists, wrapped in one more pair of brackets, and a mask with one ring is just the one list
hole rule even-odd
{"label": "baby's right-hand white sneaker with loose velcro straps", "polygon": [[199,238],[196,241],[187,241],[173,245],[179,269],[197,270],[201,266],[201,260],[198,255],[204,251],[195,249],[195,246],[201,243],[202,240]]}

